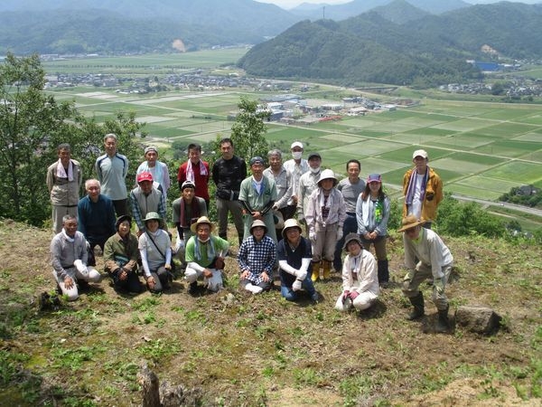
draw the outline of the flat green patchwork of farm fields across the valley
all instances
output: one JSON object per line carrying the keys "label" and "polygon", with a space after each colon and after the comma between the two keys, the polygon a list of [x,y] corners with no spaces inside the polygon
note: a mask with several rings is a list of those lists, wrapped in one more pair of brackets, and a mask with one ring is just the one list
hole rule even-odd
{"label": "flat green patchwork of farm fields across the valley", "polygon": [[[134,66],[135,71],[163,71],[184,68],[216,68],[234,62],[244,50],[189,52],[175,55],[146,55],[123,58],[75,60],[46,63],[47,71],[100,70]],[[295,90],[294,90],[295,92]],[[354,90],[320,88],[307,99],[325,98],[341,102]],[[237,109],[241,96],[258,99],[278,92],[247,89],[214,91],[168,91],[154,95],[121,95],[104,88],[58,90],[57,99],[73,99],[81,112],[98,119],[112,117],[118,110],[135,111],[146,123],[150,139],[167,147],[177,139],[206,142],[217,135],[228,136],[229,113]],[[364,95],[369,96],[370,95]],[[387,101],[381,95],[375,99]],[[422,99],[413,108],[369,112],[363,117],[344,116],[340,121],[311,125],[268,125],[267,140],[272,147],[287,150],[302,140],[305,152],[319,151],[323,165],[344,176],[345,163],[358,158],[361,175],[381,173],[388,190],[399,194],[399,185],[411,166],[412,151],[425,148],[430,166],[444,180],[444,190],[476,198],[496,200],[511,186],[533,184],[542,187],[542,109],[534,105],[480,101]]]}

